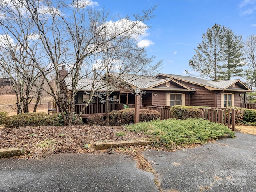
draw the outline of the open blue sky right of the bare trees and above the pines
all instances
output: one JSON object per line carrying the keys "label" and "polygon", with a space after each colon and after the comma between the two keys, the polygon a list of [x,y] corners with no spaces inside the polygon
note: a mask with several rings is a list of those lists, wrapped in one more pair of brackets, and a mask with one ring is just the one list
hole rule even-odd
{"label": "open blue sky right of the bare trees and above the pines", "polygon": [[102,0],[95,8],[108,9],[110,15],[121,17],[147,10],[154,4],[155,18],[146,24],[148,56],[156,56],[154,62],[163,60],[162,73],[184,75],[191,70],[188,60],[196,46],[202,42],[202,34],[215,23],[229,27],[246,39],[256,34],[256,1],[245,0]]}

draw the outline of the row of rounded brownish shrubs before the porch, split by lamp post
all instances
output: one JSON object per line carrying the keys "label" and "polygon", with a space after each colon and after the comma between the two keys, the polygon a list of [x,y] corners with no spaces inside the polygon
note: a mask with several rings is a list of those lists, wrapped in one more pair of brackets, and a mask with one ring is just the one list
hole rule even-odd
{"label": "row of rounded brownish shrubs before the porch, split by lamp post", "polygon": [[[140,122],[148,122],[161,118],[160,112],[156,110],[140,109]],[[94,115],[87,118],[90,125],[105,125],[102,115]],[[127,108],[109,113],[109,124],[113,126],[134,124],[134,109]]]}

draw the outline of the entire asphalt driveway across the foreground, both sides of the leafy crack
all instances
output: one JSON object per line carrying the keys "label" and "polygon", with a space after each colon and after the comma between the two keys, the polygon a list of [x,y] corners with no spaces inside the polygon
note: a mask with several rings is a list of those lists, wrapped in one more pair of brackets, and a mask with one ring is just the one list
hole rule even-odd
{"label": "entire asphalt driveway across the foreground, both sides of the leafy crack", "polygon": [[[236,133],[193,149],[144,155],[168,192],[256,192],[256,136]],[[0,159],[2,192],[154,192],[154,175],[121,154],[58,154]]]}

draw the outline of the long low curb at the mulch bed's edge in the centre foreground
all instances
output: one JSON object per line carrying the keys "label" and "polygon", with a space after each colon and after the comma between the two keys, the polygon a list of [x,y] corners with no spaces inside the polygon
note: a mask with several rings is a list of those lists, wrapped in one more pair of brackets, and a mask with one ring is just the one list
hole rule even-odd
{"label": "long low curb at the mulch bed's edge in the centre foreground", "polygon": [[95,149],[108,149],[116,146],[126,146],[126,145],[151,145],[154,141],[111,141],[111,142],[96,142],[94,144]]}

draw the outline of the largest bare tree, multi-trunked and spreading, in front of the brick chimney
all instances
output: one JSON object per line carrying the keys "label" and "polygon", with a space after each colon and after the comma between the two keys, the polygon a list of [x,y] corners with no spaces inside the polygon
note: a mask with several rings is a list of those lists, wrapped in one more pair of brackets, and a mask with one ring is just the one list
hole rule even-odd
{"label": "largest bare tree, multi-trunked and spreading, in front of the brick chimney", "polygon": [[[72,123],[78,80],[84,76],[93,76],[91,99],[87,105],[97,91],[98,76],[94,71],[81,74],[83,66],[91,66],[91,56],[97,53],[100,47],[104,47],[104,44],[129,31],[138,34],[140,29],[145,27],[142,23],[153,17],[152,12],[156,8],[153,6],[142,14],[134,15],[133,22],[127,22],[122,30],[102,39],[102,31],[109,26],[108,12],[91,8],[87,1],[72,0],[67,4],[64,0],[0,0],[0,3],[2,29],[8,32],[33,60],[32,65],[40,71],[48,84],[50,91],[45,91],[54,98],[65,125]],[[124,20],[129,21],[130,18],[126,17]],[[33,52],[31,44],[20,40],[17,35],[26,31],[38,36],[40,54]],[[67,76],[72,79],[69,91],[58,70],[62,64],[68,66]],[[50,72],[56,76],[55,86],[52,86],[48,77]]]}

